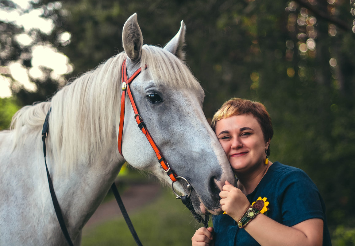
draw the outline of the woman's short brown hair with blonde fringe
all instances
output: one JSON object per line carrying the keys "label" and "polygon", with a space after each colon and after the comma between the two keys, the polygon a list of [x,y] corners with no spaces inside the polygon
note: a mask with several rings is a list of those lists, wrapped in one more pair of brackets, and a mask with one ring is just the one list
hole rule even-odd
{"label": "woman's short brown hair with blonde fringe", "polygon": [[[211,127],[215,131],[217,121],[235,115],[251,114],[259,122],[261,130],[264,134],[265,141],[272,139],[274,130],[272,127],[271,118],[266,110],[266,107],[260,102],[253,102],[243,98],[231,98],[223,103],[222,107],[214,114],[211,122]],[[266,151],[270,155],[270,145]]]}

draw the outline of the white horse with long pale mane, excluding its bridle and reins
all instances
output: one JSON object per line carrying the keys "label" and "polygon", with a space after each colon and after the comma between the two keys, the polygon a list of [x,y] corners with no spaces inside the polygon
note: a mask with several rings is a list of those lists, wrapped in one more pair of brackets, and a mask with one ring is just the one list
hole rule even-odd
{"label": "white horse with long pale mane, excluding its bridle and reins", "polygon": [[[221,213],[219,191],[234,182],[229,162],[202,111],[204,93],[185,63],[185,25],[165,48],[142,46],[132,15],[123,28],[125,52],[108,59],[58,91],[51,101],[26,106],[0,132],[0,245],[67,245],[56,218],[45,171],[41,131],[49,115],[47,164],[74,245],[117,177],[125,160],[163,182],[165,174],[147,138],[137,127],[126,98],[122,153],[121,65],[128,75],[148,66],[131,84],[139,113],[165,159],[193,187],[200,214]],[[174,188],[187,193],[178,179]]]}

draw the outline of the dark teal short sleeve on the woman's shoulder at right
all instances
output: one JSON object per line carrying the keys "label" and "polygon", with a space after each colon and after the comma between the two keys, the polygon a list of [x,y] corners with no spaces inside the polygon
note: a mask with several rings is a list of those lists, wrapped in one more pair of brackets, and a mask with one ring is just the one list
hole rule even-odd
{"label": "dark teal short sleeve on the woman's shoulder at right", "polygon": [[278,182],[278,189],[282,224],[293,226],[312,218],[324,220],[320,193],[304,171],[286,172]]}

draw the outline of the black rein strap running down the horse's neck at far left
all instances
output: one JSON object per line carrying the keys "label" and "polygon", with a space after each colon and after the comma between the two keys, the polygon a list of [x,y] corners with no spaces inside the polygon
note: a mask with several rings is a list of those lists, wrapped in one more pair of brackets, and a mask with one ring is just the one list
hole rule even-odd
{"label": "black rein strap running down the horse's neck at far left", "polygon": [[47,171],[47,178],[48,178],[48,184],[49,184],[49,191],[50,191],[50,196],[52,197],[52,202],[55,210],[55,214],[57,215],[57,219],[60,225],[60,228],[62,229],[63,235],[65,237],[65,240],[67,241],[69,246],[73,246],[73,242],[70,239],[69,232],[67,230],[67,227],[65,225],[65,221],[63,218],[62,211],[60,209],[58,199],[55,195],[54,188],[53,188],[53,182],[52,179],[50,178],[50,174],[48,171],[48,166],[47,166],[47,161],[45,159],[46,157],[46,148],[45,148],[45,139],[47,138],[48,132],[49,132],[49,125],[48,125],[48,119],[49,119],[49,114],[52,108],[49,108],[49,111],[47,113],[47,116],[45,117],[45,121],[43,124],[43,129],[42,129],[42,141],[43,141],[43,154],[44,154],[44,163],[45,163],[45,169]]}

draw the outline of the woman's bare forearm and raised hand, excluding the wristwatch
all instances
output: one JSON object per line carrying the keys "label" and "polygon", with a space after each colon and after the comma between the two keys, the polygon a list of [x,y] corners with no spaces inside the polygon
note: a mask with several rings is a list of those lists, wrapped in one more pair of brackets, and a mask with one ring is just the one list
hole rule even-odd
{"label": "woman's bare forearm and raised hand, excluding the wristwatch", "polygon": [[[250,205],[240,189],[226,183],[220,192],[222,209],[238,221]],[[308,219],[292,227],[282,225],[266,215],[259,214],[244,229],[262,246],[322,245],[323,220]]]}

